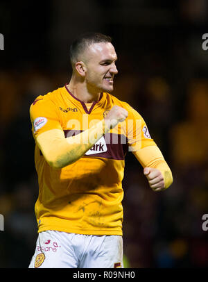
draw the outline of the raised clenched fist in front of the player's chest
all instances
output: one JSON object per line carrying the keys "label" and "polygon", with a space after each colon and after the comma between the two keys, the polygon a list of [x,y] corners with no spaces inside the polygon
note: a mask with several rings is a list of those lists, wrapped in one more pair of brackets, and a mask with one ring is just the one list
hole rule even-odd
{"label": "raised clenched fist in front of the player's chest", "polygon": [[105,124],[109,128],[114,128],[119,122],[123,122],[128,117],[128,111],[119,106],[113,106],[105,117]]}

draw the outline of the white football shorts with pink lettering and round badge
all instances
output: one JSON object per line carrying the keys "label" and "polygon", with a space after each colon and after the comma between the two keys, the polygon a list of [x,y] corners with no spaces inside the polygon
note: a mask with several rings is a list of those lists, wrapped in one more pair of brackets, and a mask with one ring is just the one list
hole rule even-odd
{"label": "white football shorts with pink lettering and round badge", "polygon": [[37,238],[29,268],[123,267],[120,235],[82,235],[43,231]]}

